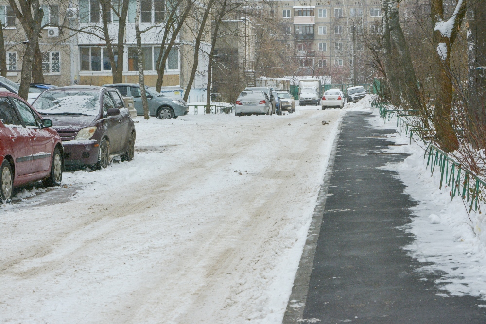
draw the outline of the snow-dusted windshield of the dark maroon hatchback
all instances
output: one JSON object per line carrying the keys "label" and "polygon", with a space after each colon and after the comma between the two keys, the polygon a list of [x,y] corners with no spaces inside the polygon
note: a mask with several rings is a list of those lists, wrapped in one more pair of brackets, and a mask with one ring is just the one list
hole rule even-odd
{"label": "snow-dusted windshield of the dark maroon hatchback", "polygon": [[96,116],[100,112],[99,92],[46,91],[34,102],[41,114]]}

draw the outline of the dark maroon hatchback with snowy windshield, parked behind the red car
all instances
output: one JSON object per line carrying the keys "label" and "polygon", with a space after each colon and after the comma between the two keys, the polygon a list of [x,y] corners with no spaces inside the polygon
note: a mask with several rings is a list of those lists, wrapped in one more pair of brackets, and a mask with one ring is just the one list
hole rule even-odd
{"label": "dark maroon hatchback with snowy windshield, parked behind the red car", "polygon": [[66,166],[106,168],[114,156],[131,161],[135,125],[113,88],[72,85],[44,91],[35,109],[52,119],[64,145]]}

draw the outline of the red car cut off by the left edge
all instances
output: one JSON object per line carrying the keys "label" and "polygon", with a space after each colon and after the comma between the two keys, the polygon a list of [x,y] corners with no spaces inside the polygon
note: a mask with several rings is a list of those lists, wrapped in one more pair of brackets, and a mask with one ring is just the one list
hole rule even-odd
{"label": "red car cut off by the left edge", "polygon": [[11,201],[13,189],[42,180],[60,186],[63,146],[52,121],[42,117],[19,96],[0,92],[0,194]]}

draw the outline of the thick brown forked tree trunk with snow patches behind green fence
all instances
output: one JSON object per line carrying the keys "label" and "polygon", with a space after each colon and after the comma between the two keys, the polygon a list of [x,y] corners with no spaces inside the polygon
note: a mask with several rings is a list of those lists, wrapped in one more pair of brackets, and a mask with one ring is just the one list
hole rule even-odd
{"label": "thick brown forked tree trunk with snow patches behind green fence", "polygon": [[[455,15],[455,16],[454,16]],[[457,32],[466,15],[466,0],[459,0],[451,18],[454,19],[450,31],[441,28],[444,21],[444,8],[442,0],[432,0],[430,17],[432,20],[432,44],[435,48],[434,63],[436,69],[435,87],[436,99],[434,107],[435,135],[439,146],[446,152],[453,152],[459,147],[459,141],[452,128],[452,79],[451,79],[451,47]],[[442,25],[442,27],[444,24]]]}

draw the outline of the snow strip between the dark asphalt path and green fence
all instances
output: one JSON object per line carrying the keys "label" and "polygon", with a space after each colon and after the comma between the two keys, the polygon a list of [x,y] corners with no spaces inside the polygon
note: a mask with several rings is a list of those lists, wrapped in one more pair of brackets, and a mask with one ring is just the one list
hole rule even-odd
{"label": "snow strip between the dark asphalt path and green fence", "polygon": [[[360,102],[351,107],[369,107]],[[369,109],[369,108],[368,108]],[[369,119],[370,127],[390,129],[392,146],[388,151],[411,154],[403,163],[387,165],[388,170],[397,171],[405,184],[405,192],[418,202],[411,208],[416,216],[405,228],[415,236],[415,241],[405,247],[410,255],[422,262],[431,262],[418,269],[420,273],[440,274],[437,286],[441,295],[472,295],[486,300],[486,219],[483,214],[467,208],[460,197],[451,200],[451,188],[439,190],[440,172],[431,176],[426,169],[424,149],[409,137],[396,131],[396,119],[384,123],[375,111]],[[485,205],[481,208],[485,210]],[[423,278],[423,280],[427,280]],[[486,303],[485,303],[486,304]],[[479,305],[486,307],[486,305]]]}

